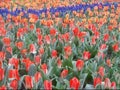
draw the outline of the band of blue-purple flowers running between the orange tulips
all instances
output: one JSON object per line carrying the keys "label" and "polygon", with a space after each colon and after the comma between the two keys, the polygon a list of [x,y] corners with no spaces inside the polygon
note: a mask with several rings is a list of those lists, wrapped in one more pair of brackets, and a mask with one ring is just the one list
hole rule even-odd
{"label": "band of blue-purple flowers running between the orange tulips", "polygon": [[64,7],[51,7],[49,9],[47,8],[43,8],[40,10],[36,10],[36,9],[31,9],[29,8],[28,10],[26,10],[26,8],[16,8],[15,10],[11,9],[7,9],[7,8],[3,8],[0,9],[0,14],[4,17],[7,17],[8,14],[12,15],[12,16],[18,16],[20,15],[20,13],[23,13],[24,16],[28,16],[29,14],[35,14],[37,16],[40,16],[41,14],[46,14],[46,13],[50,13],[50,14],[55,14],[57,12],[61,13],[61,15],[63,16],[64,14],[66,14],[67,12],[73,12],[73,11],[80,11],[83,10],[84,13],[85,11],[87,11],[88,8],[90,8],[91,10],[94,9],[94,7],[98,7],[103,8],[104,6],[109,6],[109,7],[118,7],[118,3],[94,3],[94,4],[77,4],[77,5],[69,5],[69,6],[64,6]]}

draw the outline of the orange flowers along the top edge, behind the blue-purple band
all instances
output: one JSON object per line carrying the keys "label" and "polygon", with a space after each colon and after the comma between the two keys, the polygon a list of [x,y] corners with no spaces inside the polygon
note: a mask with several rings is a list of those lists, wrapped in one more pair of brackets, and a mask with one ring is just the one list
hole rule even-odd
{"label": "orange flowers along the top edge, behind the blue-purple band", "polygon": [[[111,2],[112,0],[102,0],[102,2],[108,1]],[[117,1],[117,0],[114,0]],[[51,8],[51,7],[65,7],[70,5],[77,5],[77,4],[94,4],[94,3],[102,3],[100,0],[4,0],[0,1],[0,7],[11,9],[11,6],[15,8],[26,7],[33,8],[33,9],[43,9],[43,8]]]}

